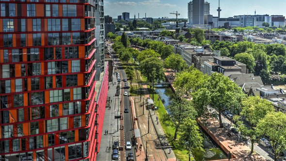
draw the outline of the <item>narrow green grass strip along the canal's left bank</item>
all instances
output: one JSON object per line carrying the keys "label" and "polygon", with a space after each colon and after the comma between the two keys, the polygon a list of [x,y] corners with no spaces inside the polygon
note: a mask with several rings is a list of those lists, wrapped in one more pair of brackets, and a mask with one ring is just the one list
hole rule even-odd
{"label": "narrow green grass strip along the canal's left bank", "polygon": [[[149,96],[152,98],[152,89],[150,89],[150,86],[148,86],[148,91],[149,91]],[[187,151],[181,150],[180,145],[173,139],[175,134],[174,124],[170,121],[165,121],[165,122],[162,121],[164,119],[164,116],[168,113],[162,101],[160,99],[158,101],[158,95],[155,91],[154,91],[154,104],[155,106],[159,107],[159,110],[156,111],[156,114],[165,132],[165,135],[167,136],[169,143],[173,146],[173,151],[175,153],[176,158],[179,159],[180,161],[188,161],[189,155],[187,154]],[[179,137],[179,135],[177,135],[177,137]],[[191,158],[191,160],[192,159],[193,158]]]}

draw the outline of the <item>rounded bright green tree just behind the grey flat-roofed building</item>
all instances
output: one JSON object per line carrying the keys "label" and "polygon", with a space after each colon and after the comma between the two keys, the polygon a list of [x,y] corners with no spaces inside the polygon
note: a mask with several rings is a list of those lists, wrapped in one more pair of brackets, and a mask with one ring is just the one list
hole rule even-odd
{"label": "rounded bright green tree just behind the grey flat-roofed building", "polygon": [[254,72],[255,60],[252,54],[248,54],[246,52],[236,54],[234,59],[240,63],[246,64],[249,73]]}

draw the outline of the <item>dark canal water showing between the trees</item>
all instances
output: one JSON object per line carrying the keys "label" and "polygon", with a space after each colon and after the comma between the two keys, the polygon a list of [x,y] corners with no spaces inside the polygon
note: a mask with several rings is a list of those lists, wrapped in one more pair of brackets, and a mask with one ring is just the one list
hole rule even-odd
{"label": "dark canal water showing between the trees", "polygon": [[[174,92],[170,87],[157,87],[154,89],[156,93],[161,98],[164,107],[166,108],[167,112],[168,106],[171,104],[172,99],[174,97]],[[204,149],[205,152],[195,151],[193,156],[196,161],[213,161],[213,160],[222,160],[227,159],[226,154],[222,151],[222,149],[217,145],[208,134],[201,128],[202,135],[204,137]]]}

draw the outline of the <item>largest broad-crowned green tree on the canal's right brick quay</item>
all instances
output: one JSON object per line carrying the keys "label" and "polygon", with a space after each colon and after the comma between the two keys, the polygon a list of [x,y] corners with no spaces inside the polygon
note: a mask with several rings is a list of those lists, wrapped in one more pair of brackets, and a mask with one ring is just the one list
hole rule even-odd
{"label": "largest broad-crowned green tree on the canal's right brick quay", "polygon": [[[206,97],[206,94],[209,97]],[[198,109],[207,111],[207,106],[214,108],[219,116],[220,128],[222,125],[222,110],[230,109],[238,113],[241,108],[241,100],[246,96],[237,84],[224,77],[222,73],[213,73],[205,82],[203,88],[192,94],[194,104],[198,104]]]}

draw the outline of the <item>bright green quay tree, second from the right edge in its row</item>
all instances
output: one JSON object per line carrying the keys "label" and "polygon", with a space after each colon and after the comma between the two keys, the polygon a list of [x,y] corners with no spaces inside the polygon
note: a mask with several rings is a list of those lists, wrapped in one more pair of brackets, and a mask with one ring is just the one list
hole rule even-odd
{"label": "bright green quay tree, second from the right edge in its row", "polygon": [[[254,143],[259,137],[259,133],[255,130],[260,119],[264,118],[267,113],[274,112],[274,107],[271,102],[260,97],[247,97],[242,101],[242,109],[240,116],[235,117],[237,121],[238,130],[244,136],[247,136],[251,142],[251,151],[253,153]],[[248,122],[248,126],[243,124],[242,119]]]}

